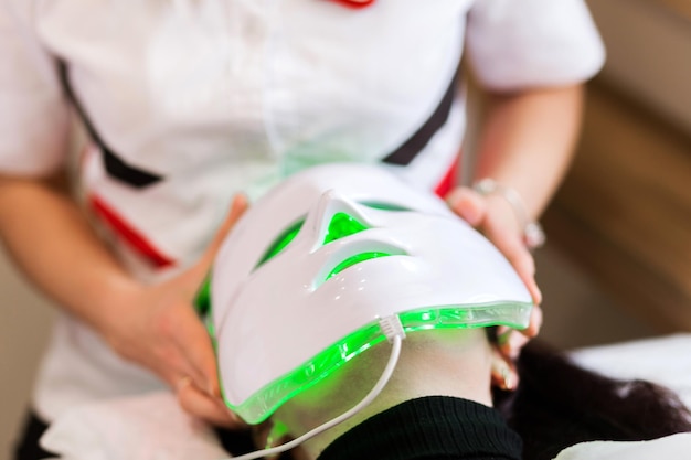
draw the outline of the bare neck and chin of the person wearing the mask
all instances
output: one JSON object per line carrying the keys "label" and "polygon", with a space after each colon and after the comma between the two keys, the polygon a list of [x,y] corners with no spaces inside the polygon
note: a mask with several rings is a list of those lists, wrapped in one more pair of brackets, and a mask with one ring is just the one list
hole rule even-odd
{"label": "bare neck and chin of the person wearing the mask", "polygon": [[[374,386],[391,346],[380,344],[341,368],[337,375],[288,402],[277,414],[294,436],[328,421],[358,404]],[[422,396],[455,396],[491,406],[490,346],[485,330],[438,330],[408,334],[396,370],[384,391],[363,410],[304,445],[319,453],[364,419]]]}

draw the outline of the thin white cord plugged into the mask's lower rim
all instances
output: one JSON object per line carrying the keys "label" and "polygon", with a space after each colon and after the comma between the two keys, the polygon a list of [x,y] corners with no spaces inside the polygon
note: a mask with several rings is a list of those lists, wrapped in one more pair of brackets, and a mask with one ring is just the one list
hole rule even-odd
{"label": "thin white cord plugged into the mask's lower rim", "polygon": [[362,398],[360,403],[358,403],[357,405],[354,405],[352,408],[341,414],[340,416],[318,426],[317,428],[310,431],[307,431],[305,435],[298,438],[295,438],[294,440],[288,441],[285,445],[276,446],[270,449],[257,450],[255,452],[245,453],[244,456],[240,456],[240,457],[233,457],[232,459],[227,459],[227,460],[253,460],[253,459],[258,459],[261,457],[273,456],[276,453],[285,452],[286,450],[290,450],[295,447],[298,447],[299,445],[307,441],[308,439],[311,439],[315,436],[320,435],[323,431],[330,428],[333,428],[334,426],[348,420],[349,418],[358,414],[360,410],[365,408],[368,405],[370,405],[370,403],[372,403],[374,398],[379,396],[379,394],[382,392],[382,389],[384,389],[384,387],[391,379],[391,376],[393,375],[393,372],[396,368],[396,364],[398,363],[398,356],[401,355],[401,344],[403,342],[403,339],[405,339],[405,331],[403,330],[403,325],[401,324],[401,320],[398,319],[397,315],[392,314],[386,318],[380,318],[379,324],[380,324],[380,328],[382,329],[382,332],[386,335],[386,339],[392,344],[391,355],[389,356],[389,362],[386,363],[386,367],[384,367],[384,371],[382,372],[382,376],[379,377],[379,381],[376,381],[376,384],[374,385],[374,387],[372,387],[370,393],[368,393],[366,396]]}

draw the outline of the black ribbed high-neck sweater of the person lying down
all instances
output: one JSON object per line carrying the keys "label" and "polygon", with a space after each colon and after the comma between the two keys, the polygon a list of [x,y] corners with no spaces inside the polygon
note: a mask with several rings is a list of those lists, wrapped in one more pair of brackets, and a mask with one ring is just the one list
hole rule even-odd
{"label": "black ribbed high-neck sweater of the person lying down", "polygon": [[520,460],[522,441],[501,415],[446,396],[407,400],[336,439],[317,460]]}

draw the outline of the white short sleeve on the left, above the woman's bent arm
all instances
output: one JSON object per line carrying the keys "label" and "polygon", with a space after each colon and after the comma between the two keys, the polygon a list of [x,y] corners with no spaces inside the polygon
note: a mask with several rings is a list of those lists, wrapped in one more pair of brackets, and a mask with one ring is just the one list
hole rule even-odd
{"label": "white short sleeve on the left, above the woman's bent arm", "polygon": [[70,111],[34,3],[0,0],[0,173],[45,174],[65,160]]}

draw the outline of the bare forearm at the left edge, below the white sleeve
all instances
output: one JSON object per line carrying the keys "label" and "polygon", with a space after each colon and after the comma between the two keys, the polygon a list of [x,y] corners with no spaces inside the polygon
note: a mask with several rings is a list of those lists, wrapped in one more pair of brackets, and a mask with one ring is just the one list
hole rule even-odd
{"label": "bare forearm at the left edge, below the white sleeve", "polygon": [[32,281],[96,329],[135,287],[77,205],[47,181],[0,178],[0,235]]}

